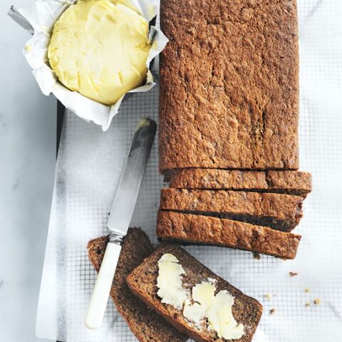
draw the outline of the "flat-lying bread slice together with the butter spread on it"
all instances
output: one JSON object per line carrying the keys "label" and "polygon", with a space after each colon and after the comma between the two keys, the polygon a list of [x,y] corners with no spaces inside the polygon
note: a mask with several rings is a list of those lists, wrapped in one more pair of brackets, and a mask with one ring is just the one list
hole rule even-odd
{"label": "flat-lying bread slice together with the butter spread on it", "polygon": [[[164,262],[170,263],[169,271],[165,271]],[[172,244],[162,245],[147,257],[128,276],[127,284],[136,296],[195,341],[249,342],[262,314],[256,299]]]}

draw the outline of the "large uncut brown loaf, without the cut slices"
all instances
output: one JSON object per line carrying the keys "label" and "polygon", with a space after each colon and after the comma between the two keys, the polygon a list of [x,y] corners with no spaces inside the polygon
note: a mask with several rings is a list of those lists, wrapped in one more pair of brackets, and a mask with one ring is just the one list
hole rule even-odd
{"label": "large uncut brown loaf, without the cut slices", "polygon": [[297,170],[296,0],[165,0],[160,171]]}

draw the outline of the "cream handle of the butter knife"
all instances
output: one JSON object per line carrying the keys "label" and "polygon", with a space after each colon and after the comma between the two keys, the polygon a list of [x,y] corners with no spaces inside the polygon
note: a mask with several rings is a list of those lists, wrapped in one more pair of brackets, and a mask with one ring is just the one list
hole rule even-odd
{"label": "cream handle of the butter knife", "polygon": [[85,324],[88,329],[97,329],[102,323],[120,251],[119,244],[108,242],[86,314]]}

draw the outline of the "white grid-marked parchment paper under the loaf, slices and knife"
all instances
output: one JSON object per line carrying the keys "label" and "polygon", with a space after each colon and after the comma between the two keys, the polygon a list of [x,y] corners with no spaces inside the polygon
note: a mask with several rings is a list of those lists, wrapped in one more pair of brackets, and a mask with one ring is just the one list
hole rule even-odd
{"label": "white grid-marked parchment paper under the loaf, slices and knife", "polygon": [[[187,247],[199,261],[264,305],[254,337],[257,342],[341,341],[341,18],[340,0],[299,0],[301,170],[312,172],[314,191],[304,203],[304,219],[296,229],[303,235],[296,259],[262,256],[257,260],[249,252]],[[38,304],[39,337],[68,342],[136,341],[112,301],[100,330],[83,326],[95,282],[86,244],[107,234],[108,211],[135,125],[146,115],[157,119],[157,104],[157,87],[135,95],[123,103],[105,133],[67,111]],[[155,245],[162,186],[156,142],[131,222],[145,229]],[[289,271],[298,276],[289,276]],[[321,304],[313,304],[315,298]],[[311,306],[305,306],[309,302]],[[272,308],[274,315],[269,314]]]}

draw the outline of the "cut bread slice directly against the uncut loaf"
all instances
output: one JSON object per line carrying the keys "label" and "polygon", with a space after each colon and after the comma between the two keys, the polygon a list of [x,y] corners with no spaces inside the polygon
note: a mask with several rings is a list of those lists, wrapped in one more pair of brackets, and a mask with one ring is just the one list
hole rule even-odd
{"label": "cut bread slice directly against the uncut loaf", "polygon": [[170,187],[200,190],[247,190],[307,195],[311,174],[299,171],[242,171],[219,169],[181,169],[165,177]]}

